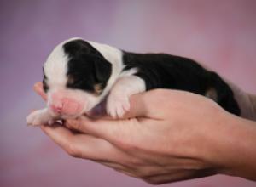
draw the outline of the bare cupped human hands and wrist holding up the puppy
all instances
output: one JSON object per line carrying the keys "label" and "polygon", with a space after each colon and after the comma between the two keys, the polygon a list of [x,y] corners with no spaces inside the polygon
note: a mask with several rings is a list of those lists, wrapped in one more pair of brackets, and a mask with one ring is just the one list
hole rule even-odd
{"label": "bare cupped human hands and wrist holding up the puppy", "polygon": [[[40,82],[34,89],[46,99]],[[41,128],[69,155],[150,184],[216,173],[256,180],[256,122],[183,91],[156,89],[130,102],[123,119],[81,116]]]}

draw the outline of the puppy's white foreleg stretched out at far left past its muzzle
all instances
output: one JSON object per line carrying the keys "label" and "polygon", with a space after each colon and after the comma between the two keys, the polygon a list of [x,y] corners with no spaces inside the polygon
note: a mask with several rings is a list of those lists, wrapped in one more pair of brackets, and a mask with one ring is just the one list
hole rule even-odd
{"label": "puppy's white foreleg stretched out at far left past its muzzle", "polygon": [[26,117],[26,123],[31,126],[51,125],[55,120],[56,117],[51,116],[47,108],[33,111]]}

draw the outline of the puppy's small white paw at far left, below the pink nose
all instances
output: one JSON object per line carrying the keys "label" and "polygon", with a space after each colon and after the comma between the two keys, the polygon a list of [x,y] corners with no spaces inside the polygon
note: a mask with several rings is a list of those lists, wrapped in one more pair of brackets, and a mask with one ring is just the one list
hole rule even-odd
{"label": "puppy's small white paw at far left, below the pink nose", "polygon": [[45,117],[42,111],[33,111],[26,117],[26,123],[30,126],[39,126],[48,124],[49,119]]}

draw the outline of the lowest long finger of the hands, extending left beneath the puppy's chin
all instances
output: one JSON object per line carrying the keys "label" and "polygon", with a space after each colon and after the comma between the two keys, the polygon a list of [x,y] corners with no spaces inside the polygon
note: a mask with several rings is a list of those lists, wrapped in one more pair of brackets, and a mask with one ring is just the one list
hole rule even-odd
{"label": "lowest long finger of the hands, extending left beneath the puppy's chin", "polygon": [[97,139],[87,134],[73,133],[66,127],[55,123],[53,126],[41,126],[50,139],[74,157],[93,161],[112,161],[125,163],[131,159],[104,139]]}

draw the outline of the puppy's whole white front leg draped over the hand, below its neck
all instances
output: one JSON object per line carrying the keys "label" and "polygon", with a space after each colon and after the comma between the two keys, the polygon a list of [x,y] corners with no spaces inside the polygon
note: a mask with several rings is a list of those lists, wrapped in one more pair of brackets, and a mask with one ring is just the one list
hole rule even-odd
{"label": "puppy's whole white front leg draped over the hand, below its neck", "polygon": [[120,77],[110,90],[107,99],[107,113],[114,118],[130,110],[129,97],[146,90],[145,82],[137,76]]}

